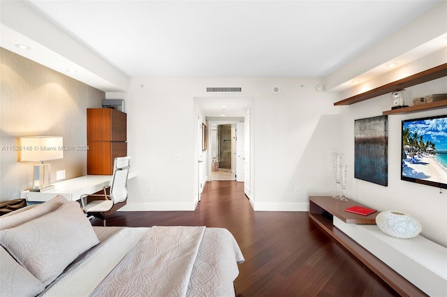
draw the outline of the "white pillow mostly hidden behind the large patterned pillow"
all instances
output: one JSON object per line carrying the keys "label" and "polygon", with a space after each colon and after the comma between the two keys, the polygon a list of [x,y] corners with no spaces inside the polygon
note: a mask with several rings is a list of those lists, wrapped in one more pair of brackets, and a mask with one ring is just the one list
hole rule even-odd
{"label": "white pillow mostly hidden behind the large patterned pillow", "polygon": [[57,208],[66,204],[68,201],[64,196],[57,195],[56,197],[38,204],[33,207],[19,208],[17,211],[12,211],[0,217],[0,230],[16,227],[24,222],[34,220],[47,213],[57,210]]}

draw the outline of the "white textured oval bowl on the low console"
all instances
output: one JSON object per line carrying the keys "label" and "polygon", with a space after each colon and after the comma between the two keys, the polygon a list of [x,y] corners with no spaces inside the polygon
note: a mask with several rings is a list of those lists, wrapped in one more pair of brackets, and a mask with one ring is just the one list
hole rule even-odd
{"label": "white textured oval bowl on the low console", "polygon": [[382,211],[376,216],[379,229],[397,238],[413,238],[420,234],[420,222],[411,215],[399,211]]}

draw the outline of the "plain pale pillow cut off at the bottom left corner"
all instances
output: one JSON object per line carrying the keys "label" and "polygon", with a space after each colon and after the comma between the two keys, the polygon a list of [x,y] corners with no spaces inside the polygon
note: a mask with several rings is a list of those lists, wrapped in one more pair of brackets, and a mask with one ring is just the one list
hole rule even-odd
{"label": "plain pale pillow cut off at the bottom left corner", "polygon": [[27,269],[13,259],[13,257],[0,247],[0,295],[36,296],[45,289],[45,286]]}

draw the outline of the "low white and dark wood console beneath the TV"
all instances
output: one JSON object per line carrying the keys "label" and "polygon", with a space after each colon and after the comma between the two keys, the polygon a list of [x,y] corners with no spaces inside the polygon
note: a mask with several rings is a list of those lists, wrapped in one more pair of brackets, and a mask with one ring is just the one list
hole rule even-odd
{"label": "low white and dark wood console beneath the TV", "polygon": [[310,196],[309,218],[401,296],[447,296],[447,248],[420,235],[388,236],[375,224],[377,213],[345,211],[354,205],[361,204]]}

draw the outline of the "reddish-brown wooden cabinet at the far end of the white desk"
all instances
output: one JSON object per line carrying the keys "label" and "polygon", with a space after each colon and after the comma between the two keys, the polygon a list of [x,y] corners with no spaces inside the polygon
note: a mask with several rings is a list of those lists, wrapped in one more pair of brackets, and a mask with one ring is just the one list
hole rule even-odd
{"label": "reddish-brown wooden cabinet at the far end of the white desk", "polygon": [[87,109],[87,174],[113,174],[113,161],[127,155],[127,114],[111,108]]}

